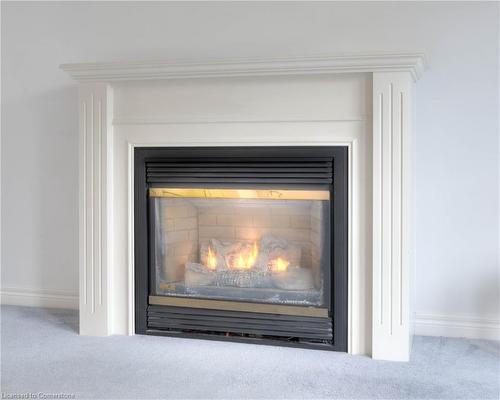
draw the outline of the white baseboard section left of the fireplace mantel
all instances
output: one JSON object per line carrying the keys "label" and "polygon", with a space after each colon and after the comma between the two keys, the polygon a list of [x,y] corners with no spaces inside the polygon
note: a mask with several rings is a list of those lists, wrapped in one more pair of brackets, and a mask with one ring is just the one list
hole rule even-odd
{"label": "white baseboard section left of the fireplace mantel", "polygon": [[2,304],[78,310],[78,296],[70,292],[6,287],[0,293]]}

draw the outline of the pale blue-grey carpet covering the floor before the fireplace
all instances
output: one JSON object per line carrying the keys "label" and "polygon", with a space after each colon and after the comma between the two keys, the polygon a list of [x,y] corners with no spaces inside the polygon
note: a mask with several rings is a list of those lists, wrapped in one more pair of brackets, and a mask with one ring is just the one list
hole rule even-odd
{"label": "pale blue-grey carpet covering the floor before the fireplace", "polygon": [[498,342],[417,337],[409,363],[152,336],[78,336],[77,312],[2,306],[2,398],[498,399]]}

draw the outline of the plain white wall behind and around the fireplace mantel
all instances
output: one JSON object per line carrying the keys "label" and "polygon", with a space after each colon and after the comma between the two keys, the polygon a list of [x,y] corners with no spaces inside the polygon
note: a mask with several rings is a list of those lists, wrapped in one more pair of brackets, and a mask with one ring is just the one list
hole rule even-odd
{"label": "plain white wall behind and around the fireplace mantel", "polygon": [[2,2],[2,290],[61,304],[77,293],[77,90],[59,64],[424,51],[417,328],[488,336],[500,300],[498,44],[493,2]]}

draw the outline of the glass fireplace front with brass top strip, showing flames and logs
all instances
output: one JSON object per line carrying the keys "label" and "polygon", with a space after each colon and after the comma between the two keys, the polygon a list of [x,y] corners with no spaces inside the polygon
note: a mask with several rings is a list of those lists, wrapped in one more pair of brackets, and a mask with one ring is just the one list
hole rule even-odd
{"label": "glass fireplace front with brass top strip, showing flames and logs", "polygon": [[161,187],[149,198],[151,295],[328,312],[328,190]]}

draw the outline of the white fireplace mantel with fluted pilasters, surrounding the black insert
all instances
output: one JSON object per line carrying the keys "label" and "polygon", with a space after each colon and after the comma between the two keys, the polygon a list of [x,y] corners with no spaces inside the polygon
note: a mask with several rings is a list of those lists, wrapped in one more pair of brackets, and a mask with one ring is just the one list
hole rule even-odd
{"label": "white fireplace mantel with fluted pilasters, surrounding the black insert", "polygon": [[349,352],[408,360],[424,67],[422,54],[62,65],[80,89],[80,333],[134,332],[135,147],[347,145]]}

